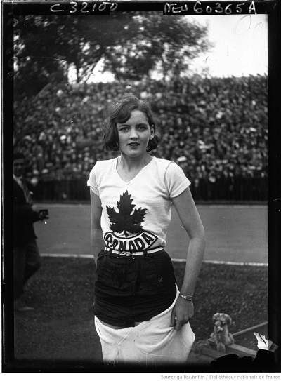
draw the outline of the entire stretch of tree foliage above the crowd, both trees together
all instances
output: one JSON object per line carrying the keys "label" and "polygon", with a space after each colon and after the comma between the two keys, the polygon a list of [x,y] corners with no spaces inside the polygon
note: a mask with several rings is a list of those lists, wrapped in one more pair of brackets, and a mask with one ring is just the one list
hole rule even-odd
{"label": "entire stretch of tree foliage above the crowd, both trees together", "polygon": [[179,74],[188,68],[187,60],[207,48],[204,27],[159,13],[27,15],[20,16],[18,31],[17,98],[37,94],[49,82],[67,81],[70,68],[77,83],[86,82],[100,60],[117,79],[140,79],[157,65],[164,77]]}

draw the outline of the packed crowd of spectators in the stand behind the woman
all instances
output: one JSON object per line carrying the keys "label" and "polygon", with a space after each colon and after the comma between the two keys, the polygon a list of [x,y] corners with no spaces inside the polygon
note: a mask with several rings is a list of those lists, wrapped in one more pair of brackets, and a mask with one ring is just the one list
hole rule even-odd
{"label": "packed crowd of spectators in the stand behind the woman", "polygon": [[150,99],[164,130],[155,156],[176,161],[192,181],[261,178],[268,174],[266,76],[164,83],[49,84],[15,102],[15,149],[39,180],[85,178],[98,160],[113,157],[101,138],[107,105],[124,92]]}

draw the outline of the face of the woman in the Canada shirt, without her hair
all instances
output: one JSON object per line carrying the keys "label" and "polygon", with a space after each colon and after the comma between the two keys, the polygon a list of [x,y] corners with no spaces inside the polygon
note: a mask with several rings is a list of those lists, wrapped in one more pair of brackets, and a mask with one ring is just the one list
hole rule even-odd
{"label": "face of the woman in the Canada shirt, without her hair", "polygon": [[129,157],[137,157],[146,153],[148,142],[154,137],[146,115],[133,110],[125,123],[117,123],[119,149]]}

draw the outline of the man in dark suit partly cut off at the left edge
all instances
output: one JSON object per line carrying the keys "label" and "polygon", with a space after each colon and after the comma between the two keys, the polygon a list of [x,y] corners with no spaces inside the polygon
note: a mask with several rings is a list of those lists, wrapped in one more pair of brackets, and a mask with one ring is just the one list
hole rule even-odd
{"label": "man in dark suit partly cut off at the left edge", "polygon": [[31,192],[23,175],[25,156],[20,152],[13,155],[13,276],[14,309],[20,312],[32,311],[26,305],[25,282],[40,267],[40,254],[33,223],[43,220],[42,215],[32,204]]}

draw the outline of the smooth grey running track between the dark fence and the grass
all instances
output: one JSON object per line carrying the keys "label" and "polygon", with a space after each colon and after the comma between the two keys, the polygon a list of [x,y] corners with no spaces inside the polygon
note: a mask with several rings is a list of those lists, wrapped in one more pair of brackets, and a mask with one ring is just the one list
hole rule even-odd
{"label": "smooth grey running track between the dark fence and the grass", "polygon": [[[39,204],[50,219],[34,224],[41,255],[92,256],[89,204]],[[268,263],[268,208],[246,205],[198,205],[207,246],[206,262],[242,265]],[[184,260],[188,236],[175,210],[167,234],[166,250],[174,260]]]}

